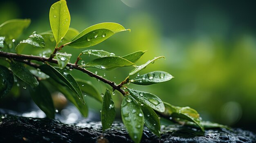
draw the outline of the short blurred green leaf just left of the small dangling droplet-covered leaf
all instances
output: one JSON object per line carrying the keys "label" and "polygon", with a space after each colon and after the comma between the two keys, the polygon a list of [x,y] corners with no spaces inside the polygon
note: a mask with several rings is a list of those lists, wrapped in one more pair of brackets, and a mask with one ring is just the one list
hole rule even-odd
{"label": "short blurred green leaf just left of the small dangling droplet-covered leaf", "polygon": [[96,87],[92,84],[91,81],[85,81],[83,79],[76,79],[77,84],[81,88],[82,92],[84,92],[86,95],[89,95],[93,97],[94,99],[102,102],[102,97],[99,94]]}

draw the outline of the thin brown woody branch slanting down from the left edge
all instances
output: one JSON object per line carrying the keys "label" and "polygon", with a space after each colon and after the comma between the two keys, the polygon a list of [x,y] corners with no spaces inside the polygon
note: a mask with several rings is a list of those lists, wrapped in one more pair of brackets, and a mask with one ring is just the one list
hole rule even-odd
{"label": "thin brown woody branch slanting down from the left edge", "polygon": [[[40,57],[40,56],[33,56],[33,55],[19,55],[19,54],[15,54],[15,53],[0,52],[0,57],[14,59],[16,61],[20,61],[20,62],[23,62],[30,66],[33,66],[34,68],[39,68],[40,65],[35,64],[30,61],[24,61],[24,60],[28,59],[28,60],[35,60],[35,61],[39,61],[39,62],[49,62],[49,63],[58,64],[58,61],[56,59],[50,59],[48,57]],[[100,77],[99,75],[96,75],[96,74],[90,72],[89,70],[86,70],[85,68],[81,68],[75,64],[67,64],[67,66],[68,67],[73,66],[74,69],[80,70],[83,73],[86,73],[87,75],[89,75],[90,77],[95,77],[95,78],[99,79],[100,81],[110,85],[114,90],[118,90],[122,95],[126,96],[126,92],[124,90],[122,90],[121,87],[116,85],[115,82],[112,82],[108,79],[104,79],[103,77]]]}

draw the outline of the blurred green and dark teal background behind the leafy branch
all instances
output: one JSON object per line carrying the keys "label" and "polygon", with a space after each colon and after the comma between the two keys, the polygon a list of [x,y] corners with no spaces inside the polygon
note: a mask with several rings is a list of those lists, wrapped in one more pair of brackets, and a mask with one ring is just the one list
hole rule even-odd
{"label": "blurred green and dark teal background behind the leafy branch", "polygon": [[[49,8],[55,0],[5,0],[0,5],[0,23],[13,18],[30,18],[31,25],[20,36],[50,30]],[[158,95],[175,106],[190,106],[204,120],[232,127],[256,130],[256,19],[252,0],[67,0],[70,27],[82,31],[100,22],[117,22],[131,32],[117,33],[92,46],[116,55],[148,50],[137,65],[164,55],[142,70],[144,74],[163,70],[175,78],[151,86],[129,85]],[[54,48],[54,47],[52,47]],[[88,48],[87,48],[88,49]],[[65,47],[71,62],[85,49]],[[85,55],[83,60],[88,61]],[[119,83],[132,67],[106,73]],[[95,71],[95,69],[89,69]],[[79,71],[82,79],[92,80],[99,92],[106,85]],[[114,95],[116,106],[121,95]],[[89,106],[100,110],[97,101]]]}

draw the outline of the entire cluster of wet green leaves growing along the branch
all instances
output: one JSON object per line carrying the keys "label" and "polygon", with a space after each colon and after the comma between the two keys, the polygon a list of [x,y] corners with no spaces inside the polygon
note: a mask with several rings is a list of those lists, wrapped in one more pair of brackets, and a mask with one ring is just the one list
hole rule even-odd
{"label": "entire cluster of wet green leaves growing along the branch", "polygon": [[[150,85],[169,81],[173,76],[164,71],[152,71],[144,75],[137,73],[157,59],[148,60],[145,64],[136,66],[135,62],[144,55],[145,51],[137,51],[125,56],[116,56],[103,50],[85,50],[81,55],[92,55],[96,59],[80,65],[70,63],[70,53],[59,52],[63,46],[73,48],[86,48],[103,42],[110,36],[121,31],[130,31],[117,23],[105,22],[88,27],[81,33],[70,28],[70,13],[65,0],[60,0],[52,5],[49,11],[51,31],[40,34],[33,32],[27,40],[22,40],[14,48],[15,40],[27,28],[30,20],[9,20],[0,25],[0,48],[1,52],[18,54],[38,55],[40,57],[56,58],[58,67],[38,58],[34,61],[38,67],[27,66],[27,60],[5,59],[1,57],[0,65],[0,95],[3,97],[13,87],[14,81],[21,80],[29,84],[31,98],[38,107],[45,112],[47,117],[54,118],[55,109],[51,97],[52,90],[62,92],[65,97],[79,109],[84,117],[88,116],[88,107],[85,104],[83,93],[92,96],[102,103],[101,122],[102,129],[107,130],[115,120],[115,103],[112,100],[112,92],[106,89],[103,98],[90,81],[75,79],[70,70],[76,68],[98,68],[100,70],[113,70],[115,68],[134,66],[128,77],[119,84],[119,88],[127,90],[121,103],[121,117],[129,135],[133,141],[141,140],[144,124],[154,134],[160,136],[159,116],[167,117],[177,123],[193,125],[204,131],[204,126],[219,127],[218,124],[202,122],[198,112],[189,107],[176,107],[163,102],[152,93],[131,89],[125,84]],[[58,47],[61,45],[60,47]],[[55,48],[54,48],[55,47]],[[50,58],[49,58],[50,59]],[[23,62],[23,63],[22,63]],[[55,87],[55,89],[51,88]],[[224,126],[221,126],[224,127]]]}

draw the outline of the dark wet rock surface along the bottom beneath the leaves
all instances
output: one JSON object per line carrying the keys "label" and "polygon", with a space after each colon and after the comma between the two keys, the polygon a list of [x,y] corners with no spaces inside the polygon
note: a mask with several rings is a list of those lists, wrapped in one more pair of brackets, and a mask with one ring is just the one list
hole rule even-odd
{"label": "dark wet rock surface along the bottom beneath the leaves", "polygon": [[[64,124],[47,118],[29,118],[0,112],[0,143],[130,143],[124,125],[114,122],[106,132],[101,122],[83,119]],[[242,129],[200,132],[182,125],[162,125],[161,138],[144,129],[141,143],[255,143],[256,134]]]}

